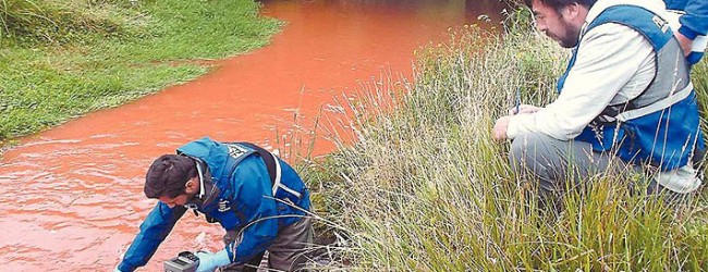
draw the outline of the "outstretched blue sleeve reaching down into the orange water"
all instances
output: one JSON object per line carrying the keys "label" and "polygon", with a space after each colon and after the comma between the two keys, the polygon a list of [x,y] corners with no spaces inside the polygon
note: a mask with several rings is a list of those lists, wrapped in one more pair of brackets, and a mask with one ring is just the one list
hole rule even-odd
{"label": "outstretched blue sleeve reaching down into the orange water", "polygon": [[166,203],[158,202],[141,224],[139,232],[125,251],[118,269],[127,272],[145,265],[185,211],[184,206],[170,208]]}

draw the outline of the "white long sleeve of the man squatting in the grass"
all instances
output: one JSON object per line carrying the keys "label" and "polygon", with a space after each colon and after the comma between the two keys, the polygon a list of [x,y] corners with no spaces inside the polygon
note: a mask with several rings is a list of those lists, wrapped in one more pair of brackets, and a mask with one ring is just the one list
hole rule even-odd
{"label": "white long sleeve of the man squatting in the grass", "polygon": [[588,30],[561,95],[535,113],[512,115],[506,137],[577,137],[618,95],[634,98],[649,85],[655,73],[651,50],[651,44],[628,26],[610,23]]}

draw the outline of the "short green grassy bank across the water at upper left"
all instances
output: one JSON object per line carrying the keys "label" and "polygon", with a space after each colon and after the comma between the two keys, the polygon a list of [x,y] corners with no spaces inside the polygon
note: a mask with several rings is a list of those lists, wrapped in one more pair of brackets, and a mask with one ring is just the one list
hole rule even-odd
{"label": "short green grassy bank across the water at upper left", "polygon": [[0,0],[0,143],[194,79],[265,46],[252,0]]}

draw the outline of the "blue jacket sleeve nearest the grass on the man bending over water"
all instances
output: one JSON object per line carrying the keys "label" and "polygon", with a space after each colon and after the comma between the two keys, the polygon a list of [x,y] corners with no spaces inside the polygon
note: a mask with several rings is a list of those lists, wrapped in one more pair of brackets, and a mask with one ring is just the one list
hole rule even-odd
{"label": "blue jacket sleeve nearest the grass on the man bending over water", "polygon": [[246,225],[227,252],[232,263],[243,263],[268,249],[278,235],[278,212],[272,199],[268,170],[257,156],[244,159],[232,175],[237,212]]}

